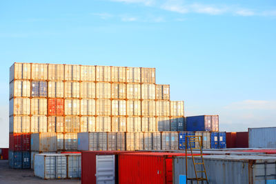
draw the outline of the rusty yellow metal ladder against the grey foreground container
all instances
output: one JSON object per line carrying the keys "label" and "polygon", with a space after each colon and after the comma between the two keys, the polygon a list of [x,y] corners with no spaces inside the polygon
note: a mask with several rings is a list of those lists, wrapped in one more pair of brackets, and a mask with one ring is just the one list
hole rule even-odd
{"label": "rusty yellow metal ladder against the grey foreground container", "polygon": [[[203,159],[203,156],[202,156],[202,143],[201,143],[201,140],[202,140],[202,136],[186,136],[185,137],[185,152],[186,152],[186,183],[188,184],[188,181],[191,181],[191,183],[193,183],[193,181],[197,181],[197,184],[199,184],[199,181],[206,181],[207,184],[208,183],[208,178],[207,178],[207,174],[206,174],[206,168],[205,168],[205,165],[204,165],[204,159]],[[195,169],[195,178],[188,178],[188,157],[187,157],[187,150],[188,150],[188,144],[187,144],[187,141],[189,141],[189,147],[190,147],[190,153],[191,153],[191,156],[192,156],[192,159],[193,159],[193,165],[194,165],[194,169]],[[197,147],[192,147],[192,145],[195,145],[195,143],[198,142],[199,143],[199,149],[200,149],[200,154],[198,155],[194,155],[193,154],[193,150],[195,149],[198,149]],[[193,143],[193,144],[192,144]],[[201,158],[201,162],[199,163],[195,163],[195,159],[194,157],[200,157]],[[203,166],[203,169],[202,171],[199,171],[197,170],[197,167],[196,165],[202,165]],[[202,176],[202,177],[199,177],[199,173],[204,173],[205,174],[205,177]],[[204,175],[202,174],[202,175]]]}

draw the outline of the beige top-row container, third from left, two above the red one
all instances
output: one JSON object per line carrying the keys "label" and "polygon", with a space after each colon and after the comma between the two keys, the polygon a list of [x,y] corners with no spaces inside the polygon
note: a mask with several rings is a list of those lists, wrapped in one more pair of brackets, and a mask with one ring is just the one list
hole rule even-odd
{"label": "beige top-row container, third from left, two above the red one", "polygon": [[64,65],[48,64],[48,80],[63,81],[64,80]]}

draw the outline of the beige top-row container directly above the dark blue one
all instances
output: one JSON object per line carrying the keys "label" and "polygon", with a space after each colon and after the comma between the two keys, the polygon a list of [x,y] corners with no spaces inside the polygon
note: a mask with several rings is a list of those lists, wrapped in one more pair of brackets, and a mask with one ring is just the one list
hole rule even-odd
{"label": "beige top-row container directly above the dark blue one", "polygon": [[48,64],[32,63],[32,80],[48,80]]}

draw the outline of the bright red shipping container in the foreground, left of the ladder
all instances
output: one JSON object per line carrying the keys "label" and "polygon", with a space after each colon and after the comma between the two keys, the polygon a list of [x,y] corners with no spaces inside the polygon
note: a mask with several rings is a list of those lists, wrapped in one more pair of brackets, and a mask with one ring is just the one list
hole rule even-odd
{"label": "bright red shipping container in the foreground, left of the ladder", "polygon": [[185,154],[170,152],[119,154],[119,183],[172,183],[172,156],[185,156]]}

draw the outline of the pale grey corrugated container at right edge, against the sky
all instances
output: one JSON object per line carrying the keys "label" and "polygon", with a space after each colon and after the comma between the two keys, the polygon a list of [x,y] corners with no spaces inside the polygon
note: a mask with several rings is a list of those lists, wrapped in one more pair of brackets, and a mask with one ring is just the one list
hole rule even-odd
{"label": "pale grey corrugated container at right edge, against the sky", "polygon": [[276,148],[276,127],[248,128],[248,144],[253,148]]}

